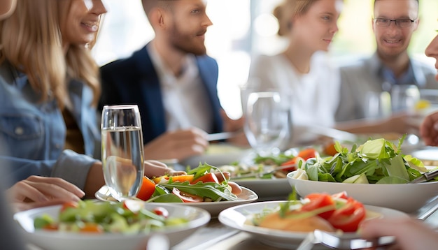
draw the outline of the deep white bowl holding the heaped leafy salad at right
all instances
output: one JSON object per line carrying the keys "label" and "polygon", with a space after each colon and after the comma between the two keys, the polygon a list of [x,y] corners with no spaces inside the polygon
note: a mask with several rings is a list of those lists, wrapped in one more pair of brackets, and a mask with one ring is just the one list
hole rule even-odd
{"label": "deep white bowl holding the heaped leafy salad at right", "polygon": [[292,178],[288,182],[295,187],[299,196],[309,193],[339,193],[346,191],[348,196],[366,205],[388,207],[412,213],[423,207],[431,198],[438,196],[438,182],[418,184],[348,184],[340,182],[316,182]]}

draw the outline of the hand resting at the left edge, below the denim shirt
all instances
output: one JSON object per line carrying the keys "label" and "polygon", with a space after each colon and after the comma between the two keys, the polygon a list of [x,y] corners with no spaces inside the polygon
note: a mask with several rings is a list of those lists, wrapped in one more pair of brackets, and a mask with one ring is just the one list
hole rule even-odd
{"label": "hand resting at the left edge, below the denim shirt", "polygon": [[85,196],[82,190],[64,179],[36,175],[15,183],[6,194],[17,211],[78,201]]}

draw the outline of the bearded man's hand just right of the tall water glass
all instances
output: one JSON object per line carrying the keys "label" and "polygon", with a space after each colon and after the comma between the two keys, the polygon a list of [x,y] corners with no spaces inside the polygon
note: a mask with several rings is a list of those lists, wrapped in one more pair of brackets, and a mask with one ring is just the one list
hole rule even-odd
{"label": "bearded man's hand just right of the tall water glass", "polygon": [[209,147],[206,137],[207,133],[199,128],[170,131],[145,145],[144,156],[148,160],[181,161],[190,156],[204,154]]}

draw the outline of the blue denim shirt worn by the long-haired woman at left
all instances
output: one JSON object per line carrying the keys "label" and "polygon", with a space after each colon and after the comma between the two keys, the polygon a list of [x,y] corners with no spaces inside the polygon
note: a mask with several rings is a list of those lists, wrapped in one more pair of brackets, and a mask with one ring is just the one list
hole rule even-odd
{"label": "blue denim shirt worn by the long-haired woman at left", "polygon": [[62,177],[83,189],[100,142],[92,90],[71,80],[72,114],[87,155],[64,150],[66,126],[55,100],[41,101],[27,75],[10,64],[0,66],[0,166],[9,168],[10,184],[29,175]]}

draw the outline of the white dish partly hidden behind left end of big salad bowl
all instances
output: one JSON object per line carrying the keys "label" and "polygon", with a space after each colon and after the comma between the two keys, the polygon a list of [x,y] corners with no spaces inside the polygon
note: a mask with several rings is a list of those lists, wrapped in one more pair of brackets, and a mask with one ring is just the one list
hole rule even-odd
{"label": "white dish partly hidden behind left end of big salad bowl", "polygon": [[292,192],[287,178],[281,179],[231,179],[241,186],[251,189],[259,198],[288,198]]}

